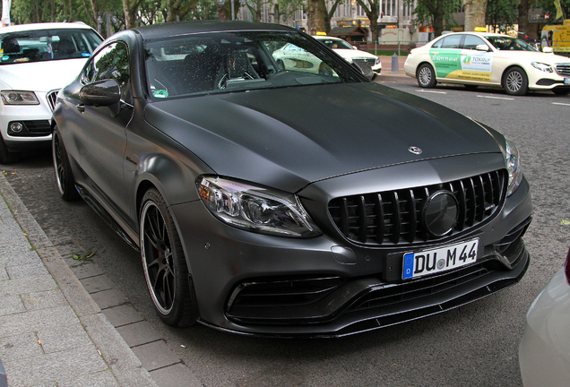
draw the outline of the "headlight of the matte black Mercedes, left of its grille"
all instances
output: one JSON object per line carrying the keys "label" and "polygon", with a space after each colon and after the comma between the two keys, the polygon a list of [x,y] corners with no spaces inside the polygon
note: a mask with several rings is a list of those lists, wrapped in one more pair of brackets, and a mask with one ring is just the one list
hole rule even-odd
{"label": "headlight of the matte black Mercedes, left of its grille", "polygon": [[274,236],[323,234],[294,194],[214,176],[198,177],[196,187],[206,208],[234,227]]}

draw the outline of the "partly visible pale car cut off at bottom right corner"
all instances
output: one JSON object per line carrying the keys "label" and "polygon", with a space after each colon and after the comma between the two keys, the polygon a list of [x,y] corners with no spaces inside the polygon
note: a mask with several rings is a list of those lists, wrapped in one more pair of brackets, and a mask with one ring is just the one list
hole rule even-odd
{"label": "partly visible pale car cut off at bottom right corner", "polygon": [[524,387],[570,385],[570,250],[526,315],[519,346]]}

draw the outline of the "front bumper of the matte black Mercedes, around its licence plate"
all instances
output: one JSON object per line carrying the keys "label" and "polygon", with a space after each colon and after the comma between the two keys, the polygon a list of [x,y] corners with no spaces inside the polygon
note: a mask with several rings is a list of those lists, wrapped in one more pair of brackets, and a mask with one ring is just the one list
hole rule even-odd
{"label": "front bumper of the matte black Mercedes, around its licence plate", "polygon": [[521,239],[531,216],[524,179],[497,217],[439,244],[479,237],[478,262],[410,281],[385,276],[392,264],[402,270],[389,258],[401,260],[409,246],[355,245],[327,230],[311,239],[254,234],[214,219],[202,202],[171,210],[201,322],[241,334],[336,337],[407,322],[514,285],[530,261]]}

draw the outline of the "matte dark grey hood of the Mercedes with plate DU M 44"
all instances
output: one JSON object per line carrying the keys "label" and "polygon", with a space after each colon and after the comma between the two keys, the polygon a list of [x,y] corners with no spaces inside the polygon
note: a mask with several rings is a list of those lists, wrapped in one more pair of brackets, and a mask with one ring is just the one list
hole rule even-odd
{"label": "matte dark grey hood of the Mercedes with plate DU M 44", "polygon": [[288,192],[357,171],[501,151],[471,119],[368,82],[164,100],[144,114],[216,174]]}

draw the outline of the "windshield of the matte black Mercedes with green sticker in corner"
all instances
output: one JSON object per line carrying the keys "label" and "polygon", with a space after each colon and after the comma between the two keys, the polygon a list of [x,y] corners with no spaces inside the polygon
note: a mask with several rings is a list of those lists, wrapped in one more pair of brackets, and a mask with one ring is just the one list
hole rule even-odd
{"label": "windshield of the matte black Mercedes with green sticker in corner", "polygon": [[231,31],[145,42],[151,96],[362,82],[298,32]]}

